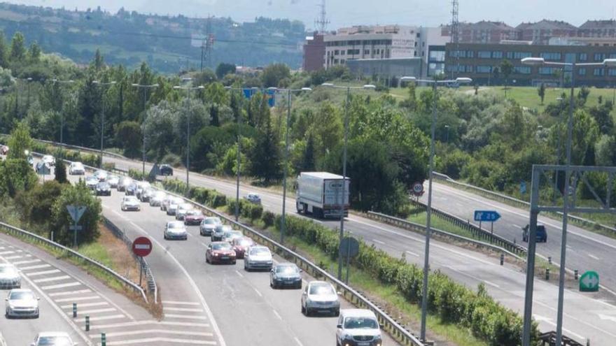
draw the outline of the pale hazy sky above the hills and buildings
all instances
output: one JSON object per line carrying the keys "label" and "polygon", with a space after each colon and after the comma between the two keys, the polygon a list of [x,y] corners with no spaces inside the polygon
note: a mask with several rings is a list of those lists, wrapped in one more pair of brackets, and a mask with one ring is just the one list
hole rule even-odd
{"label": "pale hazy sky above the hills and buildings", "polygon": [[[321,0],[10,0],[35,6],[67,9],[101,6],[144,13],[183,14],[190,17],[232,17],[239,22],[254,17],[302,20],[314,27]],[[330,29],[352,24],[416,24],[436,26],[451,20],[451,0],[327,0]],[[512,26],[543,18],[580,25],[587,19],[616,18],[615,0],[461,0],[460,20],[501,20]]]}

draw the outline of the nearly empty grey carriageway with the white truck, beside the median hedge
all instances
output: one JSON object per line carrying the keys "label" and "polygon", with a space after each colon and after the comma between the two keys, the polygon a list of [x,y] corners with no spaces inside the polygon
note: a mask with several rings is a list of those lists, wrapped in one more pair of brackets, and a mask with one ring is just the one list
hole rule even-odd
{"label": "nearly empty grey carriageway with the white truck, beside the median hedge", "polygon": [[[141,168],[141,163],[137,161],[111,157],[106,157],[105,160],[115,163],[116,167],[122,169]],[[146,169],[150,168],[151,165],[146,165]],[[175,175],[182,180],[185,174],[186,171],[182,170],[175,172]],[[235,184],[232,182],[193,173],[190,175],[190,182],[235,197]],[[240,194],[245,196],[248,192],[255,190],[260,193],[266,210],[280,212],[282,199],[279,194],[246,186],[241,186]],[[294,199],[287,199],[286,205],[286,211],[290,215],[296,215]],[[346,229],[354,236],[363,238],[365,242],[372,243],[375,247],[393,256],[399,257],[405,253],[407,261],[419,266],[423,265],[423,236],[355,215],[351,215],[347,220]],[[317,220],[317,222],[331,228],[339,226],[337,221]],[[473,289],[477,287],[477,284],[484,283],[491,296],[498,299],[500,303],[519,313],[523,312],[525,275],[519,268],[508,265],[499,266],[498,261],[493,257],[439,241],[433,241],[430,250],[430,263],[433,270],[439,269],[454,280]],[[535,280],[533,313],[542,331],[555,329],[556,297],[557,287],[554,284]],[[566,335],[582,343],[589,338],[592,345],[613,345],[616,340],[616,307],[602,301],[596,295],[582,295],[577,293],[575,288],[568,289],[563,325]]]}

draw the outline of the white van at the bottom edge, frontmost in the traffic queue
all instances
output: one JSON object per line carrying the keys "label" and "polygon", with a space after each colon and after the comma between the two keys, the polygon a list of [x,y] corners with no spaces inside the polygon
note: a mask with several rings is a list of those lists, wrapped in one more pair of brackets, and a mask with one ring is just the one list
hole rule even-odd
{"label": "white van at the bottom edge, frontmost in the traffic queue", "polygon": [[367,309],[341,310],[336,323],[336,345],[383,345],[377,315]]}

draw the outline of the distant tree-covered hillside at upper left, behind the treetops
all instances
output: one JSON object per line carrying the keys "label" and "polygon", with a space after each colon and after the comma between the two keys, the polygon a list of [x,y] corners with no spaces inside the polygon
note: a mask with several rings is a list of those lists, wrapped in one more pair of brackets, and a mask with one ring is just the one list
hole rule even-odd
{"label": "distant tree-covered hillside at upper left, behind the treetops", "polygon": [[[77,63],[89,62],[99,48],[109,64],[134,67],[147,62],[153,69],[215,69],[219,62],[264,66],[283,62],[301,65],[302,22],[258,17],[254,22],[231,18],[189,18],[143,15],[120,9],[112,14],[97,8],[76,11],[0,3],[0,29],[7,38],[25,34],[29,45],[38,41],[45,52],[58,52]],[[212,34],[207,57],[208,33]]]}

